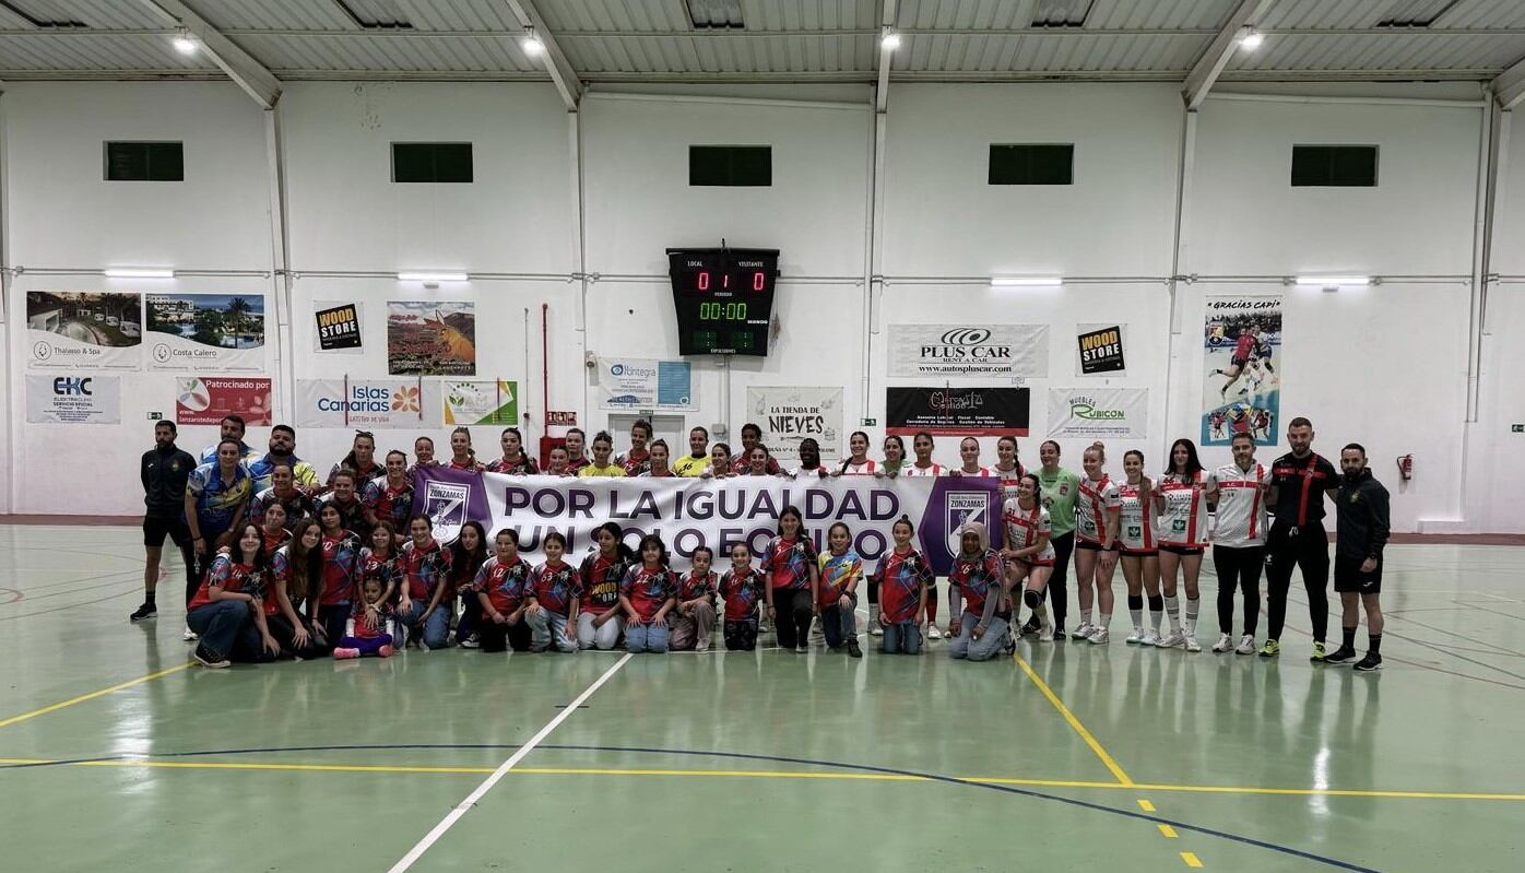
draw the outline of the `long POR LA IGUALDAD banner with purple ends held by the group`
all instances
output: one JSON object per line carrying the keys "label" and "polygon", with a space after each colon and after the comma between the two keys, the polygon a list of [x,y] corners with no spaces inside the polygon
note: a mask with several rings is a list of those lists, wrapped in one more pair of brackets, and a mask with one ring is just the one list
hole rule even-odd
{"label": "long POR LA IGUALDAD banner with purple ends held by the group", "polygon": [[[541,560],[541,540],[558,531],[567,539],[569,560],[581,562],[595,542],[593,531],[613,520],[631,548],[644,534],[659,534],[680,559],[674,569],[685,566],[698,545],[723,556],[744,542],[753,554],[761,552],[778,531],[779,513],[790,505],[799,508],[805,531],[822,548],[827,528],[845,522],[852,548],[872,565],[894,546],[891,527],[904,514],[917,530],[918,548],[933,569],[946,574],[958,552],[959,525],[988,525],[999,517],[999,485],[997,479],[958,476],[564,479],[418,467],[413,505],[435,522],[441,542],[453,540],[467,520],[480,522],[488,536],[512,528],[528,560]],[[999,528],[996,523],[997,540]],[[991,546],[999,548],[999,542]]]}

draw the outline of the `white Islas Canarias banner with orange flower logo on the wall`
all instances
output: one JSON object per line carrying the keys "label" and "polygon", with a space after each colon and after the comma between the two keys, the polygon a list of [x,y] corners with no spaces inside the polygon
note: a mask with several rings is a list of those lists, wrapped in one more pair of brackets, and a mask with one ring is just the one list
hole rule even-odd
{"label": "white Islas Canarias banner with orange flower logo on the wall", "polygon": [[297,427],[430,427],[425,409],[439,409],[438,382],[352,379],[346,391],[343,379],[296,380]]}

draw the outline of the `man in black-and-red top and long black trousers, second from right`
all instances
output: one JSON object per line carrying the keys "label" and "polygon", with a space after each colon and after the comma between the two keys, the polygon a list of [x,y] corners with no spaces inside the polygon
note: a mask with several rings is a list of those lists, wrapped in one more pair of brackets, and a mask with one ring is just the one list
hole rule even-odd
{"label": "man in black-and-red top and long black trousers, second from right", "polygon": [[1266,597],[1270,600],[1270,629],[1261,658],[1281,653],[1281,626],[1287,620],[1287,589],[1292,568],[1302,571],[1302,588],[1308,594],[1308,623],[1313,633],[1313,655],[1308,661],[1324,661],[1324,632],[1328,627],[1330,603],[1330,540],[1324,533],[1324,494],[1334,494],[1339,476],[1334,464],[1313,453],[1313,423],[1298,417],[1287,424],[1287,452],[1270,465],[1270,511],[1276,520],[1266,540]]}

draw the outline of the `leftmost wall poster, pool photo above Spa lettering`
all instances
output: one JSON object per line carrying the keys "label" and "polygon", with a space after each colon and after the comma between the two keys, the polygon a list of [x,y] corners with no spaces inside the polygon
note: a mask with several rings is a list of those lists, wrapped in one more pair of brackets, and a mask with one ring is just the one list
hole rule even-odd
{"label": "leftmost wall poster, pool photo above Spa lettering", "polygon": [[143,298],[119,292],[27,292],[32,369],[142,368]]}

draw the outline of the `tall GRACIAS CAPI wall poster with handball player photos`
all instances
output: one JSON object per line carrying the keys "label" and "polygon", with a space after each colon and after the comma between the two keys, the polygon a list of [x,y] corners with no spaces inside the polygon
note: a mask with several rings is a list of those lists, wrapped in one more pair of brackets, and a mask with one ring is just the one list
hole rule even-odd
{"label": "tall GRACIAS CAPI wall poster with handball player photos", "polygon": [[1281,423],[1279,296],[1212,296],[1202,325],[1202,444],[1249,433],[1275,446]]}

